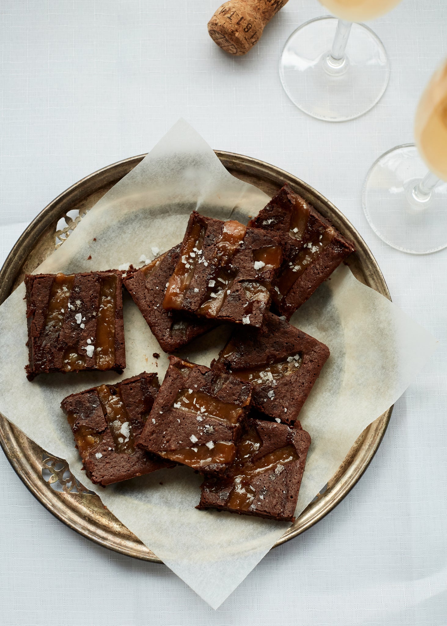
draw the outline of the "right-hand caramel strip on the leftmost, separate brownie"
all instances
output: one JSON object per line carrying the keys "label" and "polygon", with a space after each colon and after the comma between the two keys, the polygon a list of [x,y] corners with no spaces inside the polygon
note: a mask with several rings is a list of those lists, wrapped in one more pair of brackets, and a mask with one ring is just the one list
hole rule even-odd
{"label": "right-hand caramel strip on the leftmost, separate brownie", "polygon": [[101,280],[95,341],[95,363],[98,369],[110,369],[115,364],[116,281],[115,274]]}

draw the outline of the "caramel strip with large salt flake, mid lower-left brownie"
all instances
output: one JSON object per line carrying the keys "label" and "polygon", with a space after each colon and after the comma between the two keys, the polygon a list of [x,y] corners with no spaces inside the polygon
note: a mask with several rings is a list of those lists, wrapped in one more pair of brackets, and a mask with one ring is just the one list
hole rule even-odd
{"label": "caramel strip with large salt flake, mid lower-left brownie", "polygon": [[115,452],[133,454],[135,443],[130,420],[118,391],[111,394],[107,385],[96,387],[106,421],[113,437]]}

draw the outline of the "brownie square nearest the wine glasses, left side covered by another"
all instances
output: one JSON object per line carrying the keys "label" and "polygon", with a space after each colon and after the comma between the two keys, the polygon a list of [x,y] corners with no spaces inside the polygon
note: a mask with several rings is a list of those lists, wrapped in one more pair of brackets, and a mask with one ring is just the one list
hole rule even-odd
{"label": "brownie square nearest the wine glasses, left side covered by another", "polygon": [[287,320],[355,250],[351,241],[289,185],[279,190],[249,226],[281,238],[284,258],[272,283],[272,310]]}

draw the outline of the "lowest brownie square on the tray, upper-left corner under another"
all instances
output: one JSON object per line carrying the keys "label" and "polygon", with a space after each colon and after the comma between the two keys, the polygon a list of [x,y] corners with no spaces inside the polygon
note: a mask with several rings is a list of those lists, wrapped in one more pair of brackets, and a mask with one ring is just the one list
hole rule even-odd
{"label": "lowest brownie square on the tray, upper-left corner under another", "polygon": [[222,478],[207,478],[196,507],[295,521],[309,433],[286,424],[247,419],[236,458]]}

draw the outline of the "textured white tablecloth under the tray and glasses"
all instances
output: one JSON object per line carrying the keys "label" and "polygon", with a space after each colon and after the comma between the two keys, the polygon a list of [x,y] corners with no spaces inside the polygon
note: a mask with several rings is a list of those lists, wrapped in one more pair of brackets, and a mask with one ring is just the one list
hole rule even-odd
{"label": "textured white tablecloth under the tray and glasses", "polygon": [[403,0],[369,24],[391,59],[388,90],[362,118],[333,125],[295,109],[277,73],[287,36],[324,14],[316,0],[290,0],[243,58],[208,38],[218,4],[3,0],[2,259],[58,193],[149,150],[183,116],[215,148],[274,163],[330,198],[371,246],[394,302],[441,346],[356,488],[270,552],[217,612],[163,565],[66,528],[0,455],[0,623],[445,626],[447,250],[411,257],[382,244],[361,185],[381,153],[412,141],[418,96],[447,54],[447,5]]}

